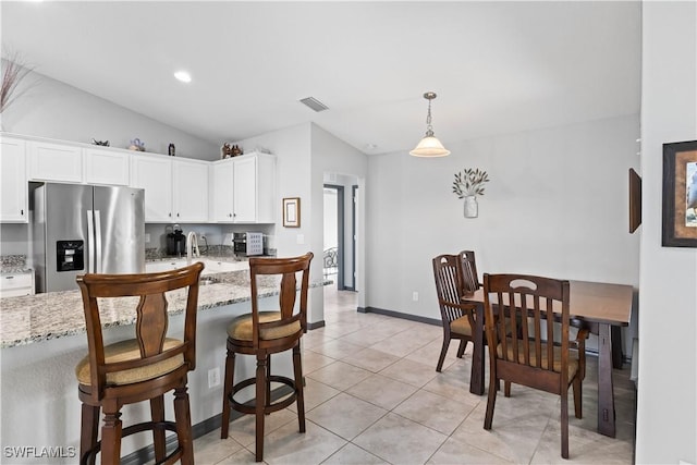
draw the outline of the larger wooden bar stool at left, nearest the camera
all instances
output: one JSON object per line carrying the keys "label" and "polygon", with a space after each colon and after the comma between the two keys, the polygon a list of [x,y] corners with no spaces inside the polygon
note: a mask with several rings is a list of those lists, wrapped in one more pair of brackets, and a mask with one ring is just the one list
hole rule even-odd
{"label": "larger wooden bar stool at left, nearest the camera", "polygon": [[[83,403],[81,464],[94,464],[99,452],[102,464],[120,463],[121,438],[146,430],[152,431],[158,464],[178,460],[183,464],[194,463],[186,375],[196,365],[196,308],[203,269],[204,265],[197,262],[158,273],[77,277],[89,347],[87,356],[75,368]],[[105,345],[99,305],[111,305],[113,299],[109,297],[119,297],[113,305],[133,306],[134,339]],[[186,302],[183,341],[167,336],[168,298]],[[163,394],[172,390],[174,423],[164,420]],[[151,421],[123,428],[121,407],[142,401],[150,401]],[[98,441],[100,409],[103,409],[105,423]],[[175,431],[179,440],[178,448],[169,455],[164,430]]]}

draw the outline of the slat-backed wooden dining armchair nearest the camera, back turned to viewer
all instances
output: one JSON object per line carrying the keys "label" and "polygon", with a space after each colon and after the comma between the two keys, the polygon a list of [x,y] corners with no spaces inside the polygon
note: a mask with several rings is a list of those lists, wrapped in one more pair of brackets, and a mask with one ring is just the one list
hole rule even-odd
{"label": "slat-backed wooden dining armchair nearest the camera, back turned to viewer", "polygon": [[[580,418],[588,335],[579,330],[570,341],[568,281],[485,273],[484,292],[490,364],[484,428],[491,429],[499,380],[558,394],[562,457],[568,458],[568,388],[574,387],[574,413]],[[554,330],[555,321],[561,331]]]}

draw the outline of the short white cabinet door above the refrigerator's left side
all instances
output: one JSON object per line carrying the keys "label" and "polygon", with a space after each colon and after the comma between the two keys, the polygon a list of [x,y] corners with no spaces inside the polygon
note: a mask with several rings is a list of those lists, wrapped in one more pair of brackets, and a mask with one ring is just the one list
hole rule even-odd
{"label": "short white cabinet door above the refrigerator's left side", "polygon": [[29,179],[83,182],[83,149],[63,144],[28,142]]}

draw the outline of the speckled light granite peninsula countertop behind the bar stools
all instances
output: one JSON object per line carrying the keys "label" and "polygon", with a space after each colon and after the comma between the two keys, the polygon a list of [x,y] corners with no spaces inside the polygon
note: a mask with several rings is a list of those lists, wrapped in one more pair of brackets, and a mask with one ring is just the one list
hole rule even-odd
{"label": "speckled light granite peninsula countertop behind the bar stools", "polygon": [[[209,274],[210,277],[211,274]],[[198,311],[250,299],[249,272],[232,271],[212,274],[218,281],[200,285]],[[259,280],[259,296],[278,294],[276,279]],[[310,286],[321,286],[330,281],[318,281]],[[167,294],[169,315],[184,311],[184,290]],[[130,302],[129,302],[130,301]],[[103,328],[135,323],[137,297],[121,299],[100,298],[99,307]],[[0,298],[0,347],[49,341],[85,332],[85,314],[80,291],[49,292],[22,297]]]}

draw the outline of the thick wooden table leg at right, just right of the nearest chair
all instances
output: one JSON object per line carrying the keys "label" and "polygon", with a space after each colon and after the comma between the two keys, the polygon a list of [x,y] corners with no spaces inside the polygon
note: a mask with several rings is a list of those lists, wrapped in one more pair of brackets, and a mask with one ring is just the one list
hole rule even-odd
{"label": "thick wooden table leg at right, just right of the nearest chair", "polygon": [[598,325],[598,432],[614,438],[614,392],[612,389],[612,335],[609,323]]}

